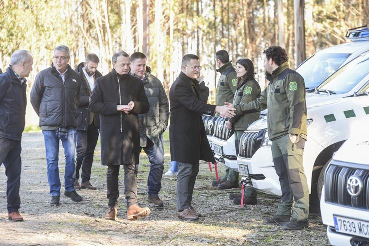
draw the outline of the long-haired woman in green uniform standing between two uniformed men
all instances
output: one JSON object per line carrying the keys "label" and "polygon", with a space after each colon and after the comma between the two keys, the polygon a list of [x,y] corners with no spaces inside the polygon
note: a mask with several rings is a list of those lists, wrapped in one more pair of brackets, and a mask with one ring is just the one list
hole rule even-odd
{"label": "long-haired woman in green uniform standing between two uniformed men", "polygon": [[[259,97],[261,89],[259,83],[255,80],[254,64],[250,59],[240,59],[236,62],[236,73],[237,73],[237,91],[233,98],[233,105],[237,106],[241,103],[248,103]],[[260,112],[246,114],[242,110],[236,111],[236,116],[226,121],[225,126],[228,129],[235,131],[235,146],[236,153],[238,155],[240,139],[245,129],[259,119]],[[244,205],[255,205],[257,204],[257,193],[251,186],[246,186],[245,198],[243,200]],[[234,194],[235,195],[235,194]],[[230,198],[231,194],[230,194]],[[241,204],[241,196],[235,196],[233,203],[236,205]]]}

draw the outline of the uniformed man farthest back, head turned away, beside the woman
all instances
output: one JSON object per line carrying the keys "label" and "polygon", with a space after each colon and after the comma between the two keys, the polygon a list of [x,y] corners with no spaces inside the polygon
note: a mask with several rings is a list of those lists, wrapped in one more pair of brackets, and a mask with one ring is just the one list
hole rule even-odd
{"label": "uniformed man farthest back, head turned away, beside the woman", "polygon": [[[237,75],[226,50],[221,49],[215,53],[215,63],[218,67],[217,72],[221,74],[217,84],[215,104],[222,106],[224,102],[233,102],[237,90]],[[238,172],[227,168],[224,177],[219,181],[214,180],[212,186],[220,190],[238,188]]]}

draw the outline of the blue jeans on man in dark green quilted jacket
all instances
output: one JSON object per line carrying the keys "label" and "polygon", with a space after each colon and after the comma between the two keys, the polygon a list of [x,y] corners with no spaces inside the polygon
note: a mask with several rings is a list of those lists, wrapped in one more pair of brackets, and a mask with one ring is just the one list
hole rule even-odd
{"label": "blue jeans on man in dark green quilted jacket", "polygon": [[[146,140],[146,147],[142,147],[150,162],[150,172],[147,178],[148,197],[157,197],[161,189],[161,178],[164,171],[164,145],[163,136],[154,144],[150,139]],[[141,151],[141,150],[140,150]]]}

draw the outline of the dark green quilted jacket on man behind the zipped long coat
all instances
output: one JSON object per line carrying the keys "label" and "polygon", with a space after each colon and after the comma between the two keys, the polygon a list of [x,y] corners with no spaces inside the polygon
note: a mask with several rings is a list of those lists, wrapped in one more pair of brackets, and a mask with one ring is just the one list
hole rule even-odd
{"label": "dark green quilted jacket on man behind the zipped long coat", "polygon": [[140,121],[140,145],[146,147],[146,137],[156,144],[167,129],[169,103],[162,83],[151,74],[151,69],[148,66],[146,66],[145,77],[142,82],[150,104],[149,112],[138,116]]}

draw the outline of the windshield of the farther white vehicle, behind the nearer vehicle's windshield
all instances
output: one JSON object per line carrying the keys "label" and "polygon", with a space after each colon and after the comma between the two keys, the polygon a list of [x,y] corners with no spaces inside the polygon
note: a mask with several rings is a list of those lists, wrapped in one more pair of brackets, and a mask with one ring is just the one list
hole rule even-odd
{"label": "windshield of the farther white vehicle, behind the nearer vehicle's windshield", "polygon": [[303,76],[305,86],[308,89],[314,89],[336,72],[350,55],[348,53],[317,53],[296,68],[296,71]]}

